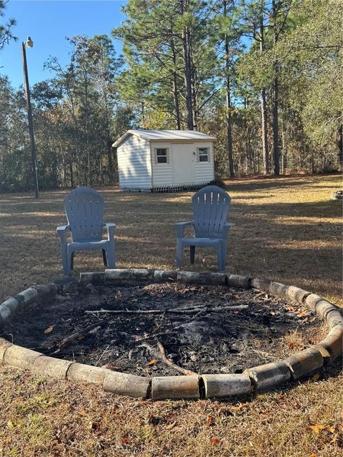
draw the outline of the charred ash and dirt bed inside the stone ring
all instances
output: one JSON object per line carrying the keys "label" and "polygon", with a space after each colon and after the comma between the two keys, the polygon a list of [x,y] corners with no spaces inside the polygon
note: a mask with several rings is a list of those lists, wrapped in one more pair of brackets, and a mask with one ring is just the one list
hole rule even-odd
{"label": "charred ash and dirt bed inside the stone ring", "polygon": [[166,376],[178,366],[241,373],[286,356],[299,340],[314,343],[314,326],[317,317],[299,304],[254,289],[167,283],[79,286],[28,308],[3,336],[49,356]]}

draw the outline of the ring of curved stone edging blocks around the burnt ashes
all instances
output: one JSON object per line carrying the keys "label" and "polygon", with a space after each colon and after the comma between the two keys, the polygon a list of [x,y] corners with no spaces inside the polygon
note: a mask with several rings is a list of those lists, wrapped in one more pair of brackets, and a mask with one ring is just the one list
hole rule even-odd
{"label": "ring of curved stone edging blocks around the burnt ashes", "polygon": [[[104,388],[104,391],[119,395],[163,400],[166,398],[220,398],[275,388],[279,384],[317,372],[342,355],[343,317],[341,311],[321,296],[304,291],[302,288],[287,286],[268,279],[227,273],[195,273],[144,268],[114,269],[102,273],[81,273],[80,275],[80,283],[93,284],[136,285],[137,283],[166,281],[256,288],[302,303],[317,313],[327,323],[330,330],[320,343],[294,353],[284,360],[247,368],[242,374],[145,378],[44,356],[31,349],[16,346],[4,338],[0,338],[0,361],[18,368],[29,369],[44,376],[53,376],[76,383],[93,383]],[[54,296],[57,292],[72,291],[76,284],[77,281],[73,278],[62,276],[46,286],[32,286],[18,295],[8,298],[0,305],[0,327],[4,328],[11,316],[21,309],[41,298]]]}

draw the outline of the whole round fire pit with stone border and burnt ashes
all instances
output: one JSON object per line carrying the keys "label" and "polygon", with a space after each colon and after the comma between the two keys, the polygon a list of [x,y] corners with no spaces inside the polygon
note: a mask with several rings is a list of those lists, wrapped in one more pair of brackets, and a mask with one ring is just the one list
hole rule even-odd
{"label": "whole round fire pit with stone border and burnt ashes", "polygon": [[[26,289],[0,316],[0,360],[153,399],[250,393],[314,373],[342,352],[343,318],[331,303],[224,273],[81,273],[79,283]],[[322,341],[319,318],[332,328]]]}

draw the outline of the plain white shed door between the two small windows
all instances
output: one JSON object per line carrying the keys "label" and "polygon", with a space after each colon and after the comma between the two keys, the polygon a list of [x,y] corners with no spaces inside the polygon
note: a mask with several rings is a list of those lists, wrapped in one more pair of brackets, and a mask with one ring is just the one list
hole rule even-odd
{"label": "plain white shed door between the two small windows", "polygon": [[173,144],[174,183],[194,183],[194,166],[197,160],[193,144]]}

